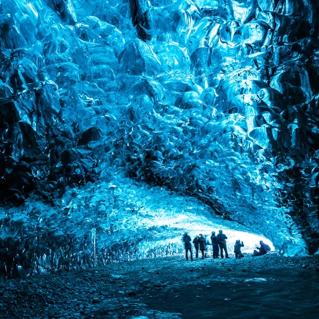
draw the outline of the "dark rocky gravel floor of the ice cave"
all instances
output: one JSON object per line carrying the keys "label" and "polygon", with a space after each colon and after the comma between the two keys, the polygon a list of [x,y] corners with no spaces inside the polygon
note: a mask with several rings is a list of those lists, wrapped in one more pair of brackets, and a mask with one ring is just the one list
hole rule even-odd
{"label": "dark rocky gravel floor of the ice cave", "polygon": [[180,256],[0,282],[1,319],[319,318],[319,256]]}

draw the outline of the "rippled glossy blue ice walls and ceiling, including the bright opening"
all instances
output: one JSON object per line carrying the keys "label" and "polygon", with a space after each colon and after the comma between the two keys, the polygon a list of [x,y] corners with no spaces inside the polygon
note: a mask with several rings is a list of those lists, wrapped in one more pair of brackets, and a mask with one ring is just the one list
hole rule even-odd
{"label": "rippled glossy blue ice walls and ceiling, including the bright opening", "polygon": [[0,0],[1,274],[318,252],[318,61],[318,0]]}

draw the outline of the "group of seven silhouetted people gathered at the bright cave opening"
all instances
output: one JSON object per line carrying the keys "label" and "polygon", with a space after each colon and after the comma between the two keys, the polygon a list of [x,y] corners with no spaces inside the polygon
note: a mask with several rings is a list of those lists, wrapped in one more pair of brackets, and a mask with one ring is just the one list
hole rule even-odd
{"label": "group of seven silhouetted people gathered at the bright cave opening", "polygon": [[[201,251],[201,259],[207,258],[207,252],[209,245],[213,246],[213,258],[230,258],[227,252],[227,246],[226,246],[226,239],[227,236],[223,234],[223,231],[219,229],[218,234],[216,236],[216,232],[212,231],[210,240],[208,240],[208,236],[203,236],[203,234],[199,234],[198,236],[195,236],[193,241],[191,241],[190,236],[187,233],[184,233],[183,236],[183,242],[185,244],[185,251],[186,251],[186,260],[188,261],[188,251],[190,253],[190,260],[193,260],[193,254],[192,254],[192,243],[194,244],[195,250],[196,250],[196,257],[198,258],[198,252]],[[253,252],[253,256],[261,256],[267,254],[268,251],[270,251],[270,247],[265,244],[262,240],[259,242],[260,247],[256,248]],[[241,252],[241,247],[244,247],[244,243],[240,241],[239,239],[236,240],[235,246],[234,246],[234,253],[235,258],[242,258],[245,257],[244,254]]]}

